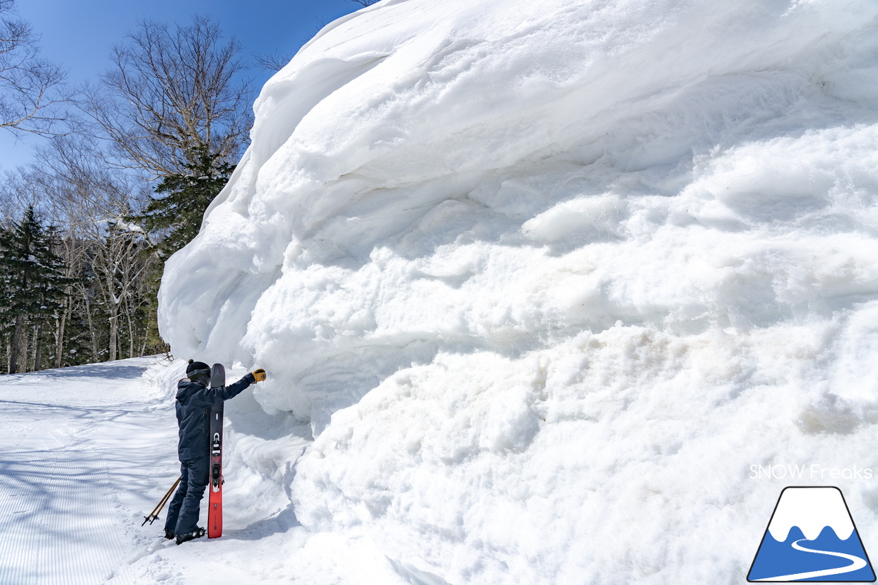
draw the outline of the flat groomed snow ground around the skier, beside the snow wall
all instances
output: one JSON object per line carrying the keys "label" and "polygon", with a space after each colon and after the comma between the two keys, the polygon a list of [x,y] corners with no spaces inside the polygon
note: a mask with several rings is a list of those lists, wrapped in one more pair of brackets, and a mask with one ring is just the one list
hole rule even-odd
{"label": "flat groomed snow ground around the skier, beside the snow wall", "polygon": [[295,530],[292,553],[306,539],[284,485],[311,437],[266,415],[252,391],[226,408],[223,538],[177,547],[162,538],[167,509],[141,526],[179,473],[184,365],[136,358],[0,376],[0,585],[189,585],[208,567],[227,582],[277,580],[255,547],[287,545]]}

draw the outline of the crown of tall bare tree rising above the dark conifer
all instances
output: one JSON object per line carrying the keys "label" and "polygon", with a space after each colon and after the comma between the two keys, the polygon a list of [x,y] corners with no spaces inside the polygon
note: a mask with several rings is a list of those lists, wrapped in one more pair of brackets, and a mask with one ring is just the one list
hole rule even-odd
{"label": "crown of tall bare tree rising above the dark conifer", "polygon": [[113,47],[113,66],[87,88],[84,108],[116,154],[153,177],[194,162],[199,148],[235,159],[253,122],[240,51],[211,18],[174,29],[141,21]]}

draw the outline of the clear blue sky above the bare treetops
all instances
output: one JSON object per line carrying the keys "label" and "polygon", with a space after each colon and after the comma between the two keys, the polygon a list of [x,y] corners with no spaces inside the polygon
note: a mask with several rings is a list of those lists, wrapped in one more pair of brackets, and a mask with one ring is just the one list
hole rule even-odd
{"label": "clear blue sky above the bare treetops", "polygon": [[[361,8],[350,0],[18,0],[21,18],[40,33],[42,54],[68,69],[71,83],[97,79],[109,65],[113,43],[123,40],[139,18],[186,22],[193,14],[207,14],[219,21],[223,32],[244,45],[242,57],[294,53],[320,29]],[[267,72],[253,69],[256,89],[268,79]],[[16,141],[0,131],[0,169],[11,170],[29,162],[32,146],[28,136]]]}

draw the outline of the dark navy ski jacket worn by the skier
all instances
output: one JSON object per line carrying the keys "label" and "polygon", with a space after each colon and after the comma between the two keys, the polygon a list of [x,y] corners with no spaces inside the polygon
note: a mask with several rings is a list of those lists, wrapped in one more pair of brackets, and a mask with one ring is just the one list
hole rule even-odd
{"label": "dark navy ski jacket worn by the skier", "polygon": [[227,401],[255,384],[249,373],[229,386],[207,388],[188,378],[176,385],[176,423],[180,427],[180,443],[177,452],[181,462],[196,461],[209,457],[207,434],[210,430],[210,410],[214,404]]}

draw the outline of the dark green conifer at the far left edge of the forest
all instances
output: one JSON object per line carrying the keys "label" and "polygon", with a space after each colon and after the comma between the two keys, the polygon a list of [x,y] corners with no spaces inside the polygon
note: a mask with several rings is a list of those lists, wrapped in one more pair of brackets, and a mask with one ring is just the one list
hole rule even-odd
{"label": "dark green conifer at the far left edge of the forest", "polygon": [[28,331],[33,331],[33,369],[39,370],[43,352],[43,329],[57,318],[72,281],[63,276],[64,261],[54,252],[57,227],[43,226],[33,206],[17,224],[0,231],[0,319],[11,337],[9,372],[25,372],[28,362]]}

